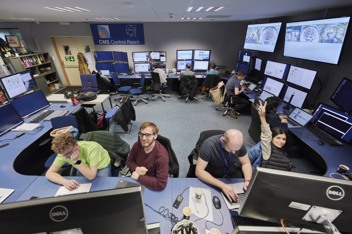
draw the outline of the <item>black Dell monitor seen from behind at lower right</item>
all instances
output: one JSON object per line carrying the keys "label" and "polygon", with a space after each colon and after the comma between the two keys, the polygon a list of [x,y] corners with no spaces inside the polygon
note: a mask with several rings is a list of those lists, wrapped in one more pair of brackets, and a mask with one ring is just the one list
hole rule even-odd
{"label": "black Dell monitor seen from behind at lower right", "polygon": [[324,215],[320,208],[341,210],[332,215],[337,217],[332,218],[332,224],[340,232],[350,232],[351,193],[352,183],[347,180],[257,167],[238,214],[276,223],[283,219],[284,225],[325,233],[323,224],[313,221],[309,214]]}

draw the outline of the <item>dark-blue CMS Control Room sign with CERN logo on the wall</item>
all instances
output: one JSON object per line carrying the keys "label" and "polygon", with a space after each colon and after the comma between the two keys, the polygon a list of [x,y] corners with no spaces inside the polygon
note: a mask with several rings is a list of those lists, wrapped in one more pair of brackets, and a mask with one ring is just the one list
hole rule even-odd
{"label": "dark-blue CMS Control Room sign with CERN logo on the wall", "polygon": [[143,24],[89,24],[95,45],[144,45]]}

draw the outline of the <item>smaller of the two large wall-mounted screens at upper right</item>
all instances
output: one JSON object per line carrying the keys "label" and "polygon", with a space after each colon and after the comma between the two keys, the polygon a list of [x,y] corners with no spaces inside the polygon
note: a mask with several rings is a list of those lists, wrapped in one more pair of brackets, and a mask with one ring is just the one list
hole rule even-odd
{"label": "smaller of the two large wall-mounted screens at upper right", "polygon": [[281,22],[247,26],[244,49],[274,52]]}

